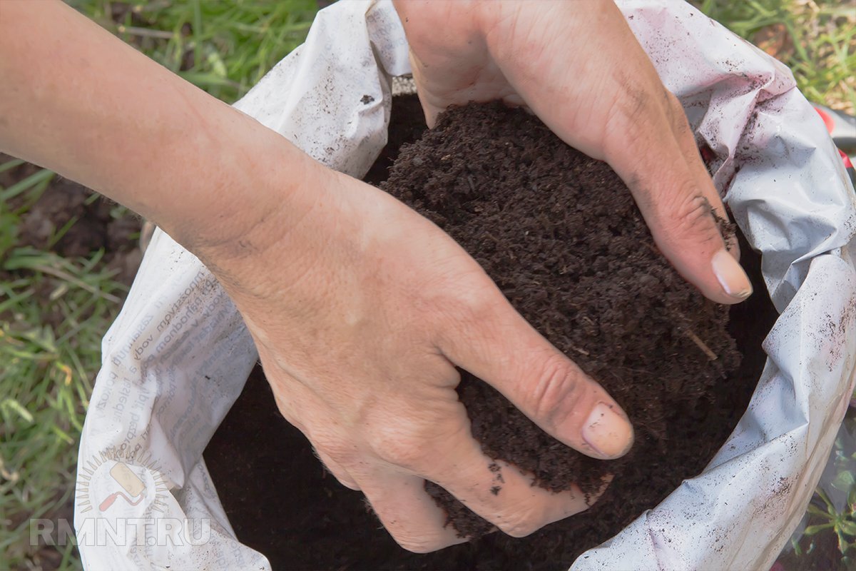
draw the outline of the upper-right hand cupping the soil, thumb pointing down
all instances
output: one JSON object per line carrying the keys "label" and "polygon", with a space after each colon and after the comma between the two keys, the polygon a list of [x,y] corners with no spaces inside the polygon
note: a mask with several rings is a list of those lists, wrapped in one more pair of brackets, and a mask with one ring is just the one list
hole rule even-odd
{"label": "upper-right hand cupping the soil, thumb pointing down", "polygon": [[752,294],[681,104],[611,0],[396,0],[429,126],[453,104],[527,105],[627,183],[657,247],[711,300]]}

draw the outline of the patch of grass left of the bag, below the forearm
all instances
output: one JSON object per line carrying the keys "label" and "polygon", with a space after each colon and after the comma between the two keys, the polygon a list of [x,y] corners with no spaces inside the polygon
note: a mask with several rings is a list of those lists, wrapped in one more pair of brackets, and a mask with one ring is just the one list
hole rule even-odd
{"label": "patch of grass left of the bag, below the forearm", "polygon": [[[0,553],[12,566],[32,555],[29,518],[70,515],[101,336],[123,294],[100,258],[15,248],[0,265]],[[74,566],[71,546],[62,560]]]}

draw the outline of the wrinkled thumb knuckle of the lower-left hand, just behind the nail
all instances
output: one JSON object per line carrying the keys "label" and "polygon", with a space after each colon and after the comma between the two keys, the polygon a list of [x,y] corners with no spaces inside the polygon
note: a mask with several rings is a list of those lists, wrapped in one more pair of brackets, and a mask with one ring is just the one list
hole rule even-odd
{"label": "wrinkled thumb knuckle of the lower-left hand, just behind the nail", "polygon": [[579,400],[583,383],[582,372],[567,357],[550,356],[529,391],[528,408],[542,425],[558,425]]}

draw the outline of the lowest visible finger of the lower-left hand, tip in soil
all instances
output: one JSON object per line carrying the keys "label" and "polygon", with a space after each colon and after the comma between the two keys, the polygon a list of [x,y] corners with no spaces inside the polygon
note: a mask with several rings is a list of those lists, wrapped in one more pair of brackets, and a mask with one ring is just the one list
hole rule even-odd
{"label": "lowest visible finger of the lower-left hand, tip in soil", "polygon": [[446,525],[446,513],[425,491],[424,479],[383,469],[366,474],[360,485],[383,527],[404,549],[429,553],[467,542]]}

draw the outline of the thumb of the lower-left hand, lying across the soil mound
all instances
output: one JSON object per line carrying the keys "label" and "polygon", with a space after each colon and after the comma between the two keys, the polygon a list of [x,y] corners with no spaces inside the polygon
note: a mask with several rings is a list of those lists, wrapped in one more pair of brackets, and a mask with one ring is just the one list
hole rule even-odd
{"label": "thumb of the lower-left hand, lying across the soil mound", "polygon": [[[486,276],[485,276],[486,277]],[[455,318],[455,338],[437,343],[447,359],[499,390],[542,430],[583,454],[613,459],[633,445],[627,414],[514,311],[493,283],[479,307]]]}

